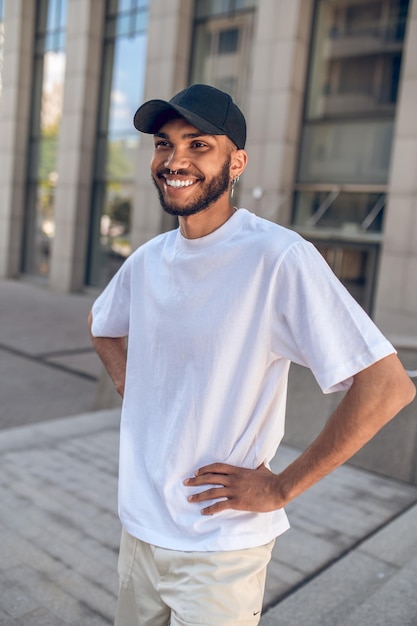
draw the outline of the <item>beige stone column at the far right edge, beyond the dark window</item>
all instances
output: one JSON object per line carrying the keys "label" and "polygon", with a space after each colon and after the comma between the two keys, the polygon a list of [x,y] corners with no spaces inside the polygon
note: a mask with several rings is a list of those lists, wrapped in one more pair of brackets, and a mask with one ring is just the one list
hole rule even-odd
{"label": "beige stone column at the far right edge, beyond the dark window", "polygon": [[375,319],[397,346],[417,347],[417,0],[407,22]]}

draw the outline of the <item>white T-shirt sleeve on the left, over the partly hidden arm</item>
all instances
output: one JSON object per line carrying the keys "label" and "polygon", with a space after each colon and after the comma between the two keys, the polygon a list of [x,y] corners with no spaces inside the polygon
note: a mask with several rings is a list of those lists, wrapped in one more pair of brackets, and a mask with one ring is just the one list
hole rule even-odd
{"label": "white T-shirt sleeve on the left, over the partly hidden arm", "polygon": [[94,337],[126,337],[129,333],[131,257],[93,304]]}

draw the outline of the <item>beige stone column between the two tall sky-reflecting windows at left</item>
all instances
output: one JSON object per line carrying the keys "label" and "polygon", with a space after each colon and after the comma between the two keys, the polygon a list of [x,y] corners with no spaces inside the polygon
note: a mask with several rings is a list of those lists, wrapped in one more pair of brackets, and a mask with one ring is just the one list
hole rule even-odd
{"label": "beige stone column between the two tall sky-reflecting windows at left", "polygon": [[85,282],[105,3],[69,0],[67,65],[58,147],[55,239],[50,286],[79,291]]}

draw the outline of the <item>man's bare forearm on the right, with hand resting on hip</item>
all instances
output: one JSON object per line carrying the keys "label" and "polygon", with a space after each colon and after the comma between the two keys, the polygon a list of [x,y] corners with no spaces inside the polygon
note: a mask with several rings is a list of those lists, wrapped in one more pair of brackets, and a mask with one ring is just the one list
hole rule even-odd
{"label": "man's bare forearm on the right, with hand resting on hip", "polygon": [[252,470],[213,463],[185,481],[189,487],[210,485],[189,500],[224,498],[203,508],[203,515],[282,508],[355,454],[413,400],[415,391],[397,357],[386,357],[354,377],[325,428],[283,472],[273,474],[264,465]]}

